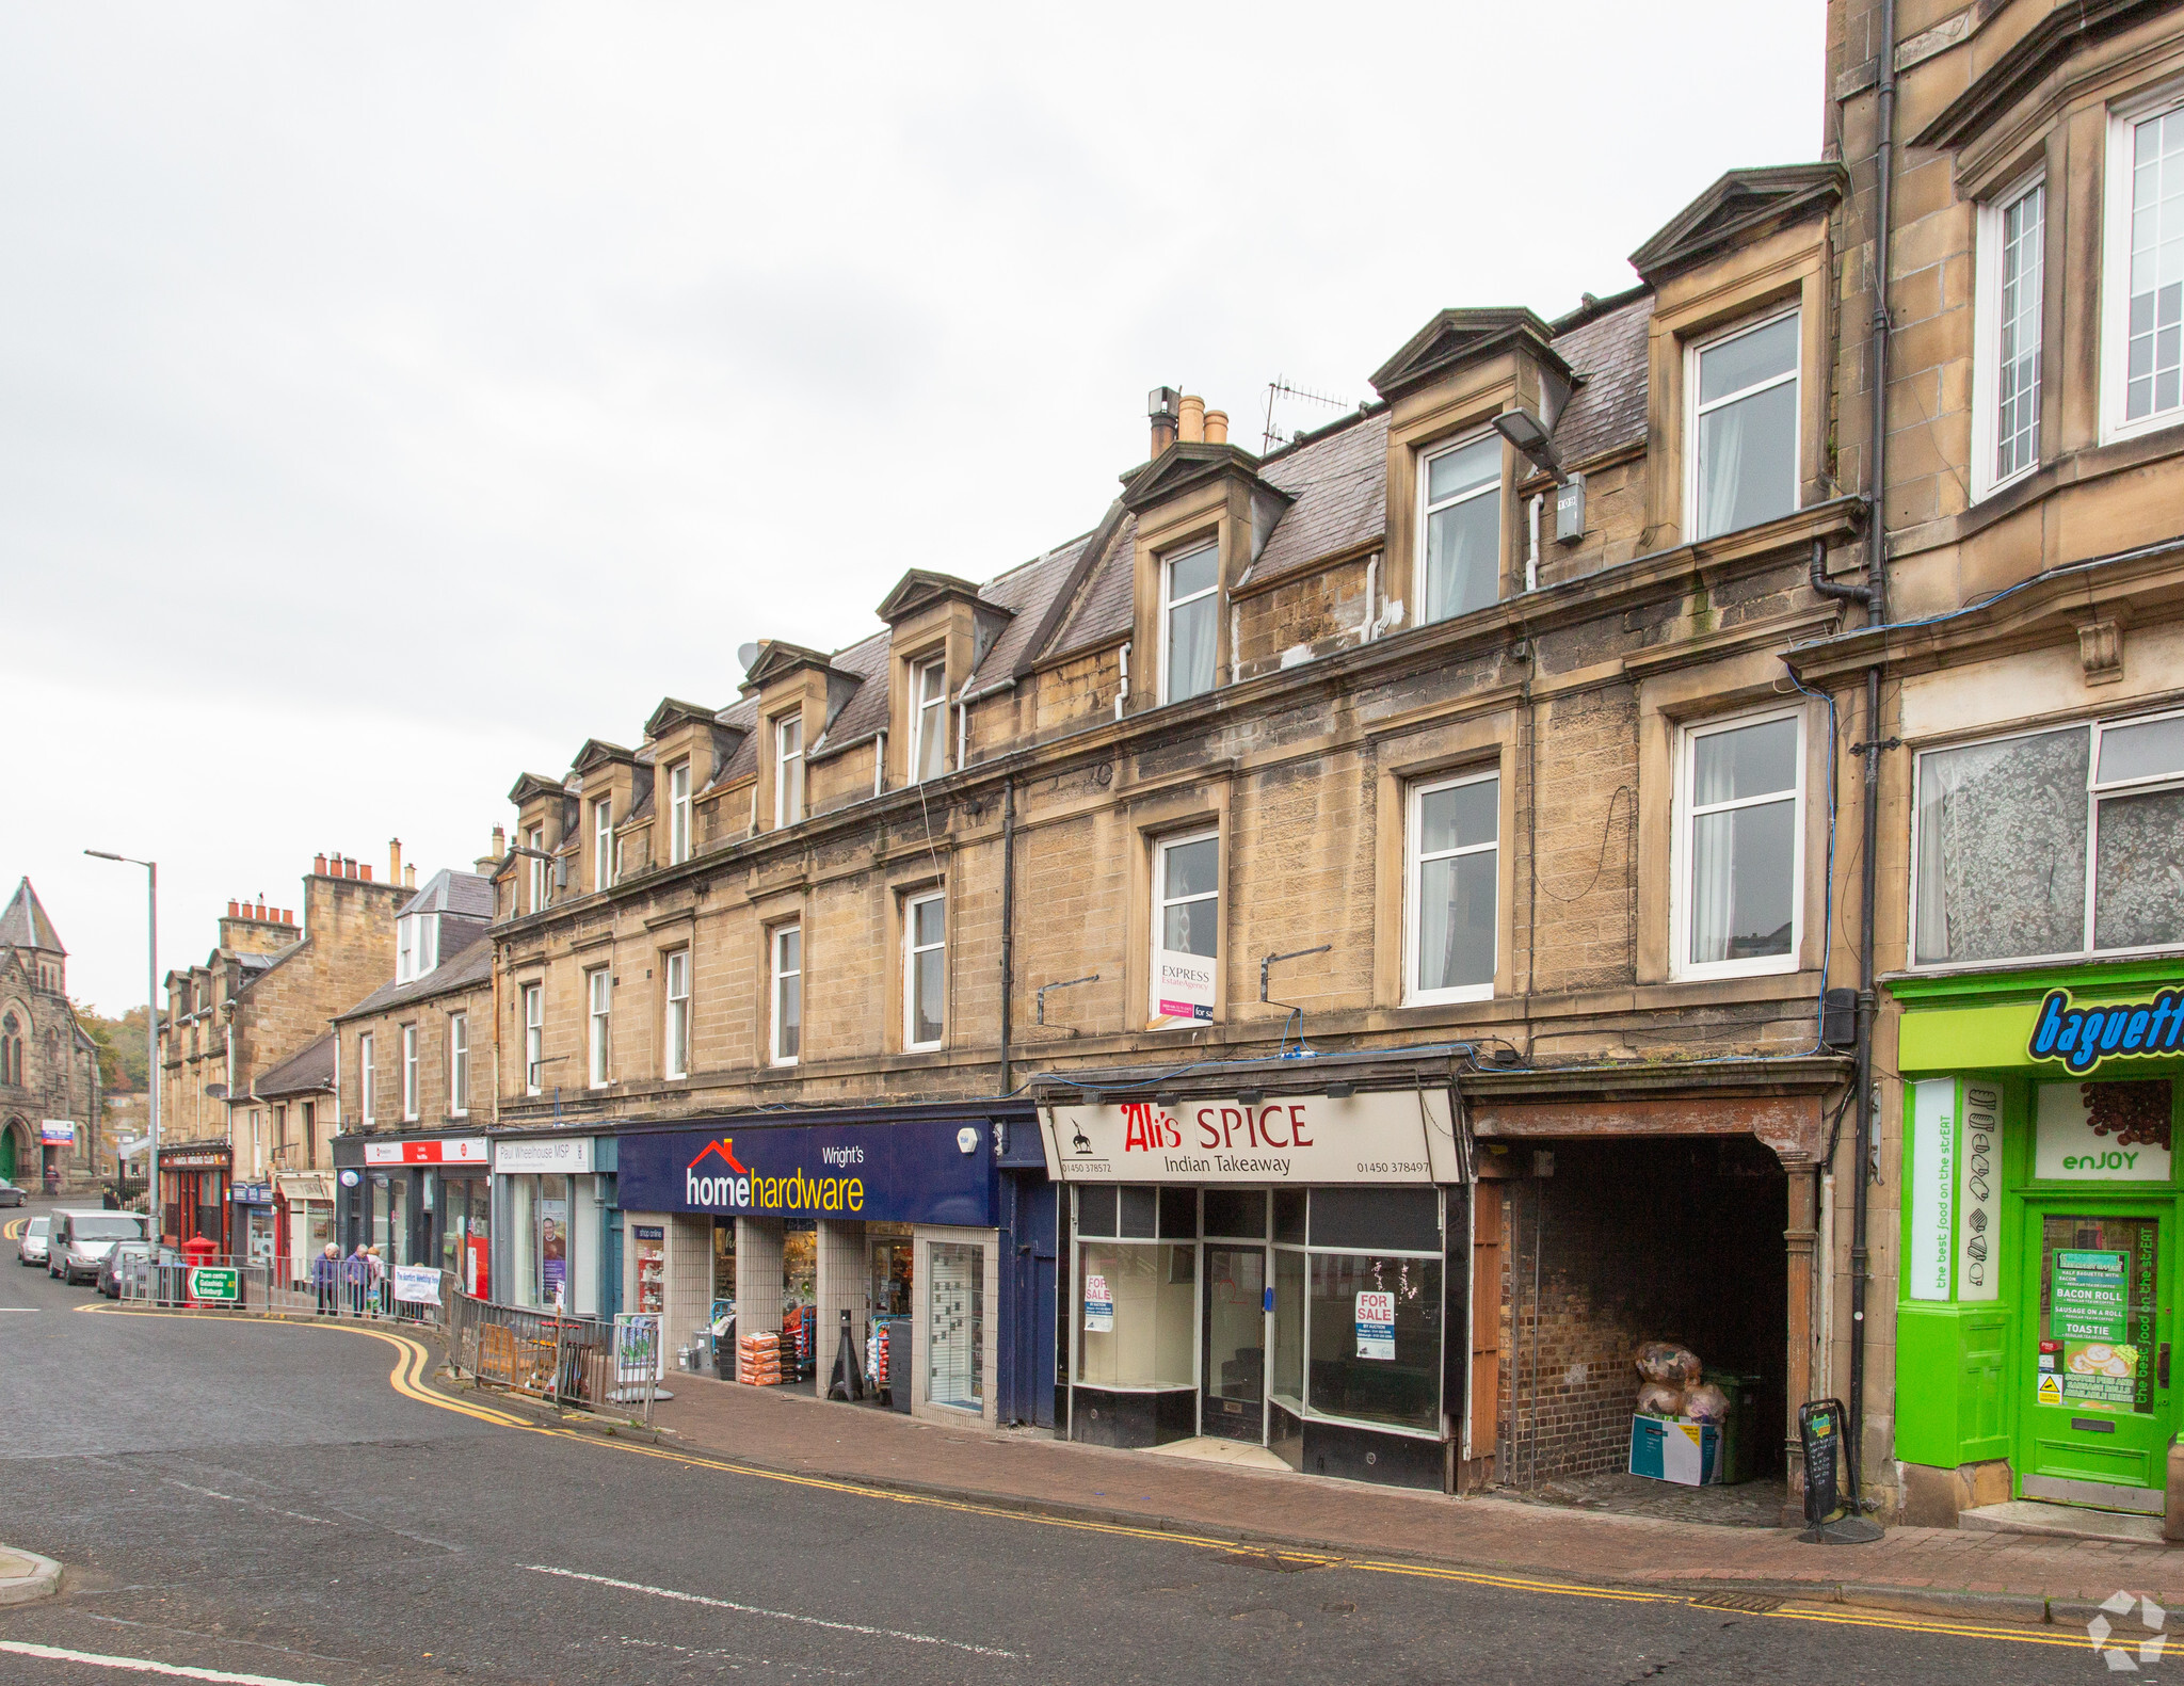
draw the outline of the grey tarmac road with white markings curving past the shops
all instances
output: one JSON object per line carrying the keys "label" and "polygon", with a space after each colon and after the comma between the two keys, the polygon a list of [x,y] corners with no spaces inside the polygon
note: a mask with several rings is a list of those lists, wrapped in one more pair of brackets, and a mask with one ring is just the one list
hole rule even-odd
{"label": "grey tarmac road with white markings curving past the shops", "polygon": [[1273,1564],[697,1468],[435,1404],[369,1334],[85,1313],[13,1260],[0,1542],[70,1577],[0,1607],[11,1686],[2112,1677],[2057,1629]]}

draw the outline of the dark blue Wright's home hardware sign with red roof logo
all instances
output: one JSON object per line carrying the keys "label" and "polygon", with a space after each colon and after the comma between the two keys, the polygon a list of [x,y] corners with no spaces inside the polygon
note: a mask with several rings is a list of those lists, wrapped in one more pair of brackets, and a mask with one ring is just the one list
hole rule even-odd
{"label": "dark blue Wright's home hardware sign with red roof logo", "polygon": [[961,1118],[771,1129],[723,1120],[625,1136],[618,1201],[625,1212],[985,1227],[992,1182],[987,1131]]}

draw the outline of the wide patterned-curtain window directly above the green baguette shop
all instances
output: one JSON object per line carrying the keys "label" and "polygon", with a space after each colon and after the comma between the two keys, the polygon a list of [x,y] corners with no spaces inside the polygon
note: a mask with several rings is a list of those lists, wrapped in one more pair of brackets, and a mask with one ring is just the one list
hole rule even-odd
{"label": "wide patterned-curtain window directly above the green baguette shop", "polygon": [[2184,714],[1920,756],[1913,928],[1920,965],[2184,946]]}

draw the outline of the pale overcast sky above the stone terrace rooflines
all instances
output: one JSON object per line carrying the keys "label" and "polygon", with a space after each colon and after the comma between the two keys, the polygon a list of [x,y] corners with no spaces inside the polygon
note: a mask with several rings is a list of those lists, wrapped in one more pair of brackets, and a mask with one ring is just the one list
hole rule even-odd
{"label": "pale overcast sky above the stone terrace rooflines", "polygon": [[[0,0],[0,895],[79,1000],[319,850],[1092,526],[1144,391],[1354,404],[1815,157],[1821,0]],[[1291,404],[1286,426],[1334,411]]]}

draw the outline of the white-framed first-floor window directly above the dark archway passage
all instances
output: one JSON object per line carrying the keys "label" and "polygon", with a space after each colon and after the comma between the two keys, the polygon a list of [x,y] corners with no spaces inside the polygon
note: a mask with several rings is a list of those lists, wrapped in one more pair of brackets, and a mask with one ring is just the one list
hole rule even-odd
{"label": "white-framed first-floor window directly above the dark archway passage", "polygon": [[1686,732],[1684,972],[1795,965],[1802,740],[1795,714]]}

